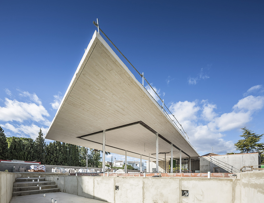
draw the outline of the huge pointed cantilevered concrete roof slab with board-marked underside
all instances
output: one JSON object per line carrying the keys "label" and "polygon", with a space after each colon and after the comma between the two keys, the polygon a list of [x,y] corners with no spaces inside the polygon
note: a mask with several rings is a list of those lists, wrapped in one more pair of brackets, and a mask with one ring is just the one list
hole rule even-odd
{"label": "huge pointed cantilevered concrete roof slab with board-marked underside", "polygon": [[46,134],[47,139],[155,160],[199,156],[157,102],[95,31]]}

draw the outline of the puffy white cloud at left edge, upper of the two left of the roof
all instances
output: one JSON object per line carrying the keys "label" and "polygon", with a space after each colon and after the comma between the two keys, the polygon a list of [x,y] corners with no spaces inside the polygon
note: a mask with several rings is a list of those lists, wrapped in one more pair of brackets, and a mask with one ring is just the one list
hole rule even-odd
{"label": "puffy white cloud at left edge, upper of the two left of the roof", "polygon": [[[36,98],[33,99],[36,100]],[[0,107],[0,121],[23,122],[31,119],[36,122],[46,122],[45,117],[49,117],[49,113],[42,106],[40,100],[36,101],[38,101],[38,105],[5,98],[5,107]]]}

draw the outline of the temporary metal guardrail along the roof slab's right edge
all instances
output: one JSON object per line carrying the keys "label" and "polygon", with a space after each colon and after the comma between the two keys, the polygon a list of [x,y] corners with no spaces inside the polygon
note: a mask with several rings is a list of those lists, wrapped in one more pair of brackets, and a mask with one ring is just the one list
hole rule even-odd
{"label": "temporary metal guardrail along the roof slab's right edge", "polygon": [[[98,22],[98,19],[97,19],[97,22]],[[98,23],[96,23],[95,21],[93,21],[93,24],[98,28],[98,30],[99,31],[101,31],[101,33],[103,33],[103,35],[110,41],[110,43],[118,50],[118,52],[128,61],[128,59],[124,56],[124,54],[122,54],[122,52],[114,45],[114,43],[107,37],[107,35],[103,32],[103,30],[101,30],[101,28],[99,28],[99,26],[98,26]],[[161,102],[162,102],[162,106],[154,99],[154,97],[150,94],[150,92],[146,89],[146,91],[150,94],[150,96],[152,96],[152,98],[157,102],[157,104],[159,105],[159,107],[161,107],[161,109],[162,109],[162,111],[164,111],[165,112],[165,115],[167,115],[169,118],[170,118],[170,120],[172,121],[172,123],[179,129],[179,132],[181,133],[181,135],[183,135],[183,137],[186,139],[186,141],[187,142],[189,142],[190,143],[190,139],[189,139],[189,136],[187,135],[187,133],[184,131],[184,129],[183,129],[183,126],[179,123],[179,121],[175,118],[175,115],[173,115],[172,114],[172,112],[168,109],[168,107],[165,105],[165,103],[164,103],[164,100],[162,100],[161,98],[160,98],[160,96],[156,93],[156,91],[154,90],[154,88],[150,85],[150,83],[146,80],[146,78],[144,77],[144,74],[141,74],[140,72],[138,72],[138,70],[130,63],[130,61],[128,61],[128,63],[136,70],[136,72],[140,75],[140,77],[142,78],[142,86],[144,87],[144,80],[148,83],[148,85],[150,86],[150,88],[154,91],[154,93],[158,96],[158,98],[161,100]],[[167,113],[167,111],[164,109],[164,106],[166,107],[166,109],[170,112],[170,114],[173,116],[173,120],[172,120],[172,118],[170,117],[170,115]],[[174,121],[174,118],[175,118],[175,120],[177,121],[177,123],[181,126],[181,128],[179,128],[178,127],[178,125],[175,123],[175,121]],[[187,138],[186,138],[186,136],[187,136],[187,138],[188,138],[188,140],[187,140]],[[191,145],[191,143],[190,143],[190,145]],[[191,145],[194,149],[195,149],[195,151],[196,151],[196,148],[193,146],[193,145]]]}

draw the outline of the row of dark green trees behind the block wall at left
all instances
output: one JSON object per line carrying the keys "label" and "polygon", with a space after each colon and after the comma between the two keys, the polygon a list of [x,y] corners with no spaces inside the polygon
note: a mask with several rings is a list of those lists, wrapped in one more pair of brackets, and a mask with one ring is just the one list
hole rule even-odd
{"label": "row of dark green trees behind the block wall at left", "polygon": [[[87,152],[88,167],[99,167],[102,165],[99,150],[89,149]],[[45,143],[41,129],[35,140],[31,138],[6,137],[4,130],[0,126],[0,159],[86,167],[86,148],[58,141]]]}

